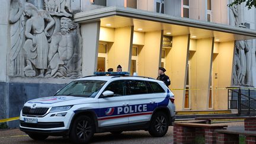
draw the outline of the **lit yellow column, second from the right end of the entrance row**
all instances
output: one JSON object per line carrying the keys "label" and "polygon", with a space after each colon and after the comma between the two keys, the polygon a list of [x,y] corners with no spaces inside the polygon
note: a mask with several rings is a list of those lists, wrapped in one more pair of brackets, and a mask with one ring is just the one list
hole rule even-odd
{"label": "lit yellow column, second from the right end of the entrance row", "polygon": [[197,40],[196,52],[190,55],[190,89],[196,89],[190,91],[192,110],[208,109],[213,40],[213,38]]}

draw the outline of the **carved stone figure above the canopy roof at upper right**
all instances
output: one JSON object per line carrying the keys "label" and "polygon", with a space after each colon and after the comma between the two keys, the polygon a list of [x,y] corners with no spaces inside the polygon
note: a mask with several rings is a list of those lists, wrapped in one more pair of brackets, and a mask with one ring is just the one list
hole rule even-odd
{"label": "carved stone figure above the canopy roof at upper right", "polygon": [[[229,0],[229,4],[231,4],[233,0]],[[229,25],[238,26],[238,6],[233,5],[232,7],[229,7]]]}

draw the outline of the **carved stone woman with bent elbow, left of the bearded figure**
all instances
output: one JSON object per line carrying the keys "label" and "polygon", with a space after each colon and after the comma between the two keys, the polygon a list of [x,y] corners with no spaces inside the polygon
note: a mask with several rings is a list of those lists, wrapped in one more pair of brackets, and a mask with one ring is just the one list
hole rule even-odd
{"label": "carved stone woman with bent elbow, left of the bearded figure", "polygon": [[[52,18],[40,17],[37,13],[37,8],[30,3],[25,4],[25,14],[28,17],[31,17],[26,23],[25,36],[33,42],[33,47],[36,49],[37,53],[34,65],[40,70],[39,77],[43,77],[44,71],[47,69],[47,56],[49,50],[47,37],[50,35],[47,31],[53,24],[55,24],[55,22]],[[44,21],[49,22],[46,28],[44,28]]]}

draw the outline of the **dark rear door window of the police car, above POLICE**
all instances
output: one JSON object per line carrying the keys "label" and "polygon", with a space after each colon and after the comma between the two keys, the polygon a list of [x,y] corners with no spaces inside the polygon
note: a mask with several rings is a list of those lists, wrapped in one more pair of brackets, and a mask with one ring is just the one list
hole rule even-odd
{"label": "dark rear door window of the police car, above POLICE", "polygon": [[127,81],[127,85],[127,95],[148,94],[152,92],[151,89],[147,87],[145,81],[129,80]]}

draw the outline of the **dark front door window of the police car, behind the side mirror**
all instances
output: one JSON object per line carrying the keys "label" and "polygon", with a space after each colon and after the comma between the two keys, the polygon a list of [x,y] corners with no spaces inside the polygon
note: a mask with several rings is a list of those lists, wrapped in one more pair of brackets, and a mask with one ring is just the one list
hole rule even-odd
{"label": "dark front door window of the police car, behind the side mirror", "polygon": [[125,81],[113,81],[111,82],[104,91],[113,91],[114,96],[124,95]]}

